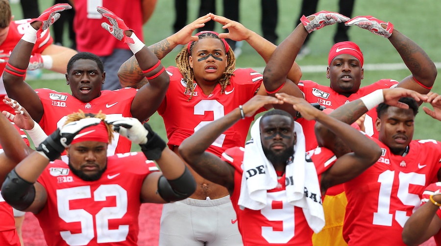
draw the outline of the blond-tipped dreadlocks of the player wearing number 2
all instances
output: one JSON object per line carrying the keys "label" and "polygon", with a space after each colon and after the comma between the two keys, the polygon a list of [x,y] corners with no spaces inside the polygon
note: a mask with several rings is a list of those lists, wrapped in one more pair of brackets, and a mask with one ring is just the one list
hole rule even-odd
{"label": "blond-tipped dreadlocks of the player wearing number 2", "polygon": [[[199,34],[199,40],[204,38],[215,38],[221,40],[218,35],[214,33],[201,33]],[[193,81],[195,80],[195,74],[193,73],[193,69],[190,67],[190,62],[188,60],[191,51],[193,50],[193,47],[197,41],[193,42],[190,46],[190,52],[188,51],[187,47],[184,47],[181,52],[176,56],[176,66],[179,69],[179,72],[184,77],[184,80],[187,84],[187,89],[185,89],[185,92],[189,92],[190,98],[188,98],[188,101],[193,97],[193,93],[195,92],[195,87],[193,86]],[[221,42],[223,45],[223,42]],[[225,47],[224,47],[225,49]],[[236,69],[236,57],[234,56],[234,52],[232,49],[228,49],[227,53],[227,66],[225,68],[225,72],[223,72],[221,78],[219,78],[219,83],[221,84],[221,94],[225,91],[225,88],[227,85],[230,84],[230,78],[233,76],[233,72]]]}

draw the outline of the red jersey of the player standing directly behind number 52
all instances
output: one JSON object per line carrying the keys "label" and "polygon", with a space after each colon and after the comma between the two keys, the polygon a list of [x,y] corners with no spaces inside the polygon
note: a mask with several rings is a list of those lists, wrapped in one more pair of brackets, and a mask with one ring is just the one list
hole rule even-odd
{"label": "red jersey of the player standing directly behind number 52", "polygon": [[[45,113],[39,124],[50,135],[57,127],[63,126],[66,115],[78,112],[98,113],[100,110],[106,115],[120,115],[132,117],[130,107],[137,89],[123,88],[115,91],[101,91],[98,98],[89,102],[83,102],[64,92],[56,92],[50,89],[35,90],[40,97]],[[107,148],[107,155],[130,152],[131,142],[118,133],[113,134],[112,144]]]}

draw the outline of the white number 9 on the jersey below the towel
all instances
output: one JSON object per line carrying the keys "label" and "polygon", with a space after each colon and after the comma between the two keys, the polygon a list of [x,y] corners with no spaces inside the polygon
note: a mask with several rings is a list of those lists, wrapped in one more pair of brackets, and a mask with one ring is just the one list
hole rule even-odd
{"label": "white number 9 on the jersey below the towel", "polygon": [[[286,200],[286,191],[269,192],[267,206],[261,211],[268,221],[282,221],[283,230],[274,230],[272,226],[262,226],[262,237],[270,244],[286,244],[294,237],[294,206]],[[272,206],[272,205],[276,206]],[[273,208],[277,207],[277,208]]]}

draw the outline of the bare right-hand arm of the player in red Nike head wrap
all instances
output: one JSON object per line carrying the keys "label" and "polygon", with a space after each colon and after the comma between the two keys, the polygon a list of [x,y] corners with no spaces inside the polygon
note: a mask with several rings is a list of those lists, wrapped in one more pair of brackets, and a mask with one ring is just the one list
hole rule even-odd
{"label": "bare right-hand arm of the player in red Nike head wrap", "polygon": [[389,41],[412,73],[412,75],[404,78],[398,84],[398,87],[427,94],[437,77],[437,68],[433,61],[421,47],[396,29],[393,30]]}

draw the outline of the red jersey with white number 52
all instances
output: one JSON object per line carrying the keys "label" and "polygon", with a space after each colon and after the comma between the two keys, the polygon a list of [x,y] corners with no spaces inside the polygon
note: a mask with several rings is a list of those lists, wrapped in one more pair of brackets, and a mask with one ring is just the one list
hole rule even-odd
{"label": "red jersey with white number 52", "polygon": [[158,171],[142,152],[107,158],[97,181],[84,181],[55,160],[38,178],[48,201],[36,215],[49,246],[136,245],[144,179]]}

